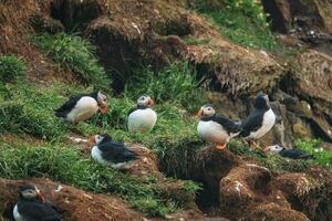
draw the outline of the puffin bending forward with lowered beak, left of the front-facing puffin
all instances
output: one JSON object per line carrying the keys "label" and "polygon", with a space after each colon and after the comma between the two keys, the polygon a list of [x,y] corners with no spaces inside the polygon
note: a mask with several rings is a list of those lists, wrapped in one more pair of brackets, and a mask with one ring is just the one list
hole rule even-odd
{"label": "puffin bending forward with lowered beak, left of the front-facing puffin", "polygon": [[98,109],[103,115],[106,114],[107,96],[102,92],[94,92],[71,97],[55,109],[55,116],[77,124],[91,118]]}

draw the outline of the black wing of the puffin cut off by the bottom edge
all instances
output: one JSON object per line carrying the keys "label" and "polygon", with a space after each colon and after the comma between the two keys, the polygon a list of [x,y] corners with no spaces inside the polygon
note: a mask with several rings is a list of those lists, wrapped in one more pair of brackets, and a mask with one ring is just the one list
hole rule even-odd
{"label": "black wing of the puffin cut off by the bottom edge", "polygon": [[62,221],[58,211],[49,204],[37,200],[19,202],[18,210],[29,221]]}

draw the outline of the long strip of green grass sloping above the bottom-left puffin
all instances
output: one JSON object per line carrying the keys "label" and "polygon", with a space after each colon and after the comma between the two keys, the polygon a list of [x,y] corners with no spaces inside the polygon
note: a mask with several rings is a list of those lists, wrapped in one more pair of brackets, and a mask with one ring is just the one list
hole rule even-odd
{"label": "long strip of green grass sloping above the bottom-left puffin", "polygon": [[156,183],[143,183],[129,175],[101,166],[82,157],[75,147],[59,143],[38,147],[1,143],[0,147],[3,178],[48,177],[84,190],[113,193],[149,215],[165,217],[178,209],[177,202],[162,197]]}

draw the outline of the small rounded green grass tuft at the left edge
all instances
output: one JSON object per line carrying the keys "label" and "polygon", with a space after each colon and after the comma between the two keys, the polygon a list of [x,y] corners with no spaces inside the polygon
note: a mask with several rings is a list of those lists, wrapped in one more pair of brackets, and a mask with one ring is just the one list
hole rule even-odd
{"label": "small rounded green grass tuft at the left edge", "polygon": [[0,82],[14,82],[25,74],[25,63],[22,59],[8,55],[0,56]]}

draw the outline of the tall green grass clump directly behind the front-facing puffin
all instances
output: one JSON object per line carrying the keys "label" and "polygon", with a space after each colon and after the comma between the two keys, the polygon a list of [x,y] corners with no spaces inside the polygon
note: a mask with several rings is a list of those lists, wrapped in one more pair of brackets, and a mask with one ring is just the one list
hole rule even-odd
{"label": "tall green grass clump directly behind the front-facing puffin", "polygon": [[148,94],[156,103],[181,104],[188,110],[197,110],[205,102],[205,94],[196,77],[188,62],[176,62],[158,72],[147,66],[129,80],[125,95],[137,99],[137,96]]}

